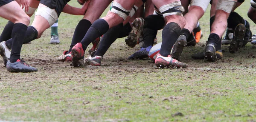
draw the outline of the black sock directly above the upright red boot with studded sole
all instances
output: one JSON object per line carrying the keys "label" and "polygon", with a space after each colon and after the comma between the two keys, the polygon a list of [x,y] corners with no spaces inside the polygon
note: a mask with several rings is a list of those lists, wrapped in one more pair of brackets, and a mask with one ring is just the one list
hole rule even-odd
{"label": "black sock directly above the upright red boot with studded sole", "polygon": [[88,29],[87,33],[85,34],[83,40],[81,40],[80,43],[82,43],[83,50],[85,51],[87,46],[93,42],[96,38],[102,36],[105,34],[109,29],[109,25],[106,20],[104,19],[98,19],[96,20],[92,26]]}

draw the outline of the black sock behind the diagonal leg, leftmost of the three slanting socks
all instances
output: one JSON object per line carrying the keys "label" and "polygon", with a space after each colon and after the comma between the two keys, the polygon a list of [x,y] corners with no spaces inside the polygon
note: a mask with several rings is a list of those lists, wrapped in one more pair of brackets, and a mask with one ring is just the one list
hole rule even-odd
{"label": "black sock behind the diagonal leg, leftmost of the three slanting socks", "polygon": [[84,38],[84,35],[87,33],[91,25],[92,23],[90,23],[89,20],[83,19],[79,21],[79,23],[76,26],[72,42],[70,45],[70,49],[68,50],[67,54],[71,52],[74,45],[81,42],[81,40]]}

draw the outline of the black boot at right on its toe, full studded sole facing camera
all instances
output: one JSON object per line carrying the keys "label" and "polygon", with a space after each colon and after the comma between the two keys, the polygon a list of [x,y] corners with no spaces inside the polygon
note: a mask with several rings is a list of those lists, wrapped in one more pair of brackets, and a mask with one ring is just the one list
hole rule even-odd
{"label": "black boot at right on its toe, full studded sole facing camera", "polygon": [[246,27],[243,24],[238,24],[236,26],[235,32],[233,34],[233,39],[230,43],[229,52],[236,53],[243,45],[244,42],[244,34],[246,31]]}

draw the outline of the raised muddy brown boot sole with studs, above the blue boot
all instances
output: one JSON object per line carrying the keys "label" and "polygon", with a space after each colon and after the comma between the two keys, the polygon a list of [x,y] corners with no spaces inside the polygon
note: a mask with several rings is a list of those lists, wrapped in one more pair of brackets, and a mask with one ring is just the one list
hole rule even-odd
{"label": "raised muddy brown boot sole with studs, above the blue boot", "polygon": [[131,32],[129,33],[128,37],[125,39],[125,43],[133,48],[135,45],[137,45],[140,40],[143,40],[143,25],[144,25],[144,19],[139,17],[136,18],[132,23]]}

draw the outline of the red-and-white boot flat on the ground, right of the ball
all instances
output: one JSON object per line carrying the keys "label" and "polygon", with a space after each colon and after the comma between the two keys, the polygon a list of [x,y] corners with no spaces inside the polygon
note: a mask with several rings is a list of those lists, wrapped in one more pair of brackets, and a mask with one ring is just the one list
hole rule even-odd
{"label": "red-and-white boot flat on the ground, right of the ball", "polygon": [[155,64],[157,67],[161,67],[161,68],[164,68],[164,67],[169,68],[170,66],[175,68],[188,67],[186,63],[175,60],[174,58],[171,57],[171,55],[168,55],[168,57],[163,57],[161,54],[157,54]]}

